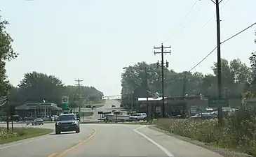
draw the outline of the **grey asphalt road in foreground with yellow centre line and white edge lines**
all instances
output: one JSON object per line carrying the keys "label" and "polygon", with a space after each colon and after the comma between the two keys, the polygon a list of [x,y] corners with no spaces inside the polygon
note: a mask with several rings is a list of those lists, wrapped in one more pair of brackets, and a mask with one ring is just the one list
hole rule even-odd
{"label": "grey asphalt road in foreground with yellow centre line and white edge lines", "polygon": [[[0,124],[4,125],[4,124]],[[21,124],[15,124],[16,127]],[[31,126],[54,128],[54,124]],[[201,147],[165,135],[147,126],[126,124],[81,124],[81,133],[44,135],[30,140],[0,144],[0,156],[175,156],[220,157]]]}

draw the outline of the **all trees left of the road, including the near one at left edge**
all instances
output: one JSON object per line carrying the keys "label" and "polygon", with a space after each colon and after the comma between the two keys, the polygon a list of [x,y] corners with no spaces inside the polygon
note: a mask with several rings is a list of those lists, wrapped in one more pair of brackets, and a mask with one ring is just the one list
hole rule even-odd
{"label": "all trees left of the road, including the near one at left edge", "polygon": [[[58,77],[44,73],[25,73],[24,78],[18,87],[11,85],[6,75],[6,61],[11,61],[18,57],[18,53],[13,50],[13,38],[6,31],[8,22],[2,20],[0,15],[0,96],[1,100],[8,100],[11,105],[22,105],[25,102],[61,103],[62,96],[69,96],[70,103],[76,104],[82,100],[95,101],[102,98],[101,91],[95,87],[82,86],[80,89],[81,98],[78,96],[78,87],[65,85]],[[3,105],[4,101],[0,105]]]}

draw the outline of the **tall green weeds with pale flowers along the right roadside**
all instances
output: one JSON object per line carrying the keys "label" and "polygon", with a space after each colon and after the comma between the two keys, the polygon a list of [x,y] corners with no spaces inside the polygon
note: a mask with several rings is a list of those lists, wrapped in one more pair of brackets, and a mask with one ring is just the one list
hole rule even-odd
{"label": "tall green weeds with pale flowers along the right roadside", "polygon": [[159,119],[157,126],[194,140],[256,156],[256,110],[242,107],[219,126],[217,119]]}

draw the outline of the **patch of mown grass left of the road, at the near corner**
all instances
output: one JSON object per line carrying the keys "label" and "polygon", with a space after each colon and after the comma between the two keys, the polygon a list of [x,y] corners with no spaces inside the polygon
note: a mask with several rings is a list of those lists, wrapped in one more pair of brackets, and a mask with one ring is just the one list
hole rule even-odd
{"label": "patch of mown grass left of the road, at the near corner", "polygon": [[14,128],[13,132],[9,131],[7,133],[6,128],[0,128],[0,144],[46,135],[52,132],[53,130],[47,128]]}

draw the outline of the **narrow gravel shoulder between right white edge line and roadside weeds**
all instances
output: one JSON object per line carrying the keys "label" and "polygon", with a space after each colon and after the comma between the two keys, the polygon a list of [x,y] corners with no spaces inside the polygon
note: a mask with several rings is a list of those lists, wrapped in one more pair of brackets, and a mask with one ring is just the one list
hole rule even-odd
{"label": "narrow gravel shoulder between right white edge line and roadside weeds", "polygon": [[220,156],[224,156],[224,157],[251,157],[248,154],[243,154],[243,153],[236,152],[236,151],[230,151],[230,150],[227,150],[227,149],[213,147],[212,145],[200,142],[198,140],[191,140],[188,137],[183,137],[183,136],[180,136],[180,135],[175,135],[175,134],[169,133],[166,130],[162,130],[161,128],[157,128],[156,126],[149,126],[148,128],[151,129],[151,130],[158,131],[160,133],[164,133],[164,134],[166,134],[166,135],[168,135],[170,137],[173,137],[173,138],[175,138],[177,140],[182,140],[184,142],[188,142],[190,144],[194,144],[194,145],[196,145],[198,147],[201,147],[203,149],[208,149],[209,151],[213,151],[216,154],[220,154]]}

